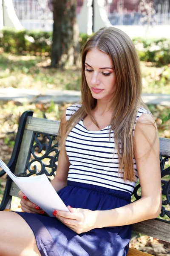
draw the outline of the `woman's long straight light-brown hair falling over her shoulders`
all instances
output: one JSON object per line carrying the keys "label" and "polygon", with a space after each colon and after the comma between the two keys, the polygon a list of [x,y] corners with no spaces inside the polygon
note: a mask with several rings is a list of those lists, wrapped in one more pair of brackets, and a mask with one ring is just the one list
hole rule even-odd
{"label": "woman's long straight light-brown hair falling over her shoulders", "polygon": [[[124,169],[124,180],[134,181],[136,179],[133,166],[133,128],[139,107],[142,106],[147,109],[147,106],[141,99],[142,73],[139,58],[132,40],[122,30],[114,27],[102,28],[83,45],[81,52],[82,107],[68,120],[63,143],[65,144],[65,140],[74,126],[87,115],[98,126],[93,116],[96,99],[92,97],[85,78],[86,54],[94,48],[107,53],[113,61],[116,91],[112,99],[114,111],[111,118],[110,132],[111,130],[114,132],[115,147],[119,159],[119,171],[122,172]],[[121,142],[121,151],[119,142]]]}

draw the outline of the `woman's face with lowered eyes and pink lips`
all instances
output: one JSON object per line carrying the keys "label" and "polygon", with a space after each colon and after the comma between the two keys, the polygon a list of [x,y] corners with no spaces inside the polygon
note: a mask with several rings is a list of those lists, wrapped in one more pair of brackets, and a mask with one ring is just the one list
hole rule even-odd
{"label": "woman's face with lowered eyes and pink lips", "polygon": [[85,58],[85,77],[95,99],[109,101],[115,92],[115,73],[111,57],[98,49],[89,51]]}

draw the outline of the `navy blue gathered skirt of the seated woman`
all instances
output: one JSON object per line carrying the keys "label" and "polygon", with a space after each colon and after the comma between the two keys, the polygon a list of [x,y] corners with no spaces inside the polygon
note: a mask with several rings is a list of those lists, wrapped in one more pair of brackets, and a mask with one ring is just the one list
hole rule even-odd
{"label": "navy blue gathered skirt of the seated woman", "polygon": [[[130,204],[128,192],[68,181],[58,195],[65,205],[109,210]],[[42,256],[126,256],[132,225],[95,228],[77,234],[57,218],[17,212],[34,232]]]}

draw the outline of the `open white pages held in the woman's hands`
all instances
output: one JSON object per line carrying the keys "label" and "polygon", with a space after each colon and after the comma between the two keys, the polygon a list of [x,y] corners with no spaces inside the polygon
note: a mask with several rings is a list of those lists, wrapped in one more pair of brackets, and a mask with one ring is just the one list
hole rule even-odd
{"label": "open white pages held in the woman's hands", "polygon": [[34,204],[37,204],[49,216],[54,217],[54,210],[69,212],[45,174],[32,177],[17,177],[1,159],[0,166],[23,191],[27,198]]}

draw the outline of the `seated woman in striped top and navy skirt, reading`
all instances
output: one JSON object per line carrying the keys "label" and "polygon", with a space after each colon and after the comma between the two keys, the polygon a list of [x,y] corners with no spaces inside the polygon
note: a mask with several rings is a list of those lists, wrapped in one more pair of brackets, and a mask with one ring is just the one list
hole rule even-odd
{"label": "seated woman in striped top and navy skirt, reading", "polygon": [[[127,255],[131,224],[161,209],[159,139],[141,93],[133,42],[100,29],[82,49],[82,104],[61,120],[51,183],[70,212],[43,216],[20,191],[25,212],[0,212],[1,256]],[[138,177],[142,198],[130,204]]]}

